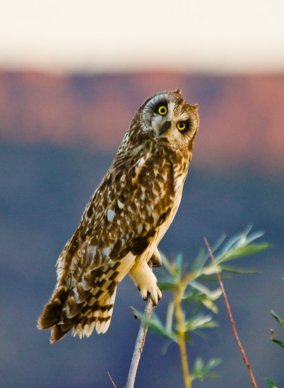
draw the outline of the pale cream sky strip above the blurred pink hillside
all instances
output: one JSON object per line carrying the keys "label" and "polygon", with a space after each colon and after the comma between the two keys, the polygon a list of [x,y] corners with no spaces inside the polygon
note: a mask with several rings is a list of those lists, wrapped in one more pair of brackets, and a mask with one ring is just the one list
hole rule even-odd
{"label": "pale cream sky strip above the blurred pink hillside", "polygon": [[0,69],[283,72],[284,0],[0,0]]}

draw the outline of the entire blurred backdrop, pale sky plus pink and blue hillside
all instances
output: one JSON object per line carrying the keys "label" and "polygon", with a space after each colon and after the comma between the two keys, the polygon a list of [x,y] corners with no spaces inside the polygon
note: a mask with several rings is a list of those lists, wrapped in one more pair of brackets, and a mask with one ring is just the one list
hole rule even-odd
{"label": "entire blurred backdrop, pale sky plus pink and blue hillside", "polygon": [[[284,318],[284,2],[281,0],[0,1],[0,387],[126,384],[144,303],[127,277],[109,331],[54,345],[36,329],[55,262],[143,101],[182,89],[200,131],[180,209],[159,248],[190,262],[249,223],[266,252],[240,260],[257,275],[225,289],[259,387],[284,386],[284,352],[270,341]],[[213,287],[216,287],[214,284]],[[165,316],[164,292],[156,311]],[[194,337],[192,365],[221,356],[217,380],[251,385],[223,301],[220,327]],[[206,311],[205,311],[206,312]],[[280,333],[277,332],[280,337]],[[136,387],[182,387],[177,347],[148,335]]]}

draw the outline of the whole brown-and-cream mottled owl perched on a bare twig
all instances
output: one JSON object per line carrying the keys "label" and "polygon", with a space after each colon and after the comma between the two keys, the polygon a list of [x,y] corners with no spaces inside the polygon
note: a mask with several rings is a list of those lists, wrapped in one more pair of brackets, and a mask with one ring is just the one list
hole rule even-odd
{"label": "whole brown-and-cream mottled owl perched on a bare twig", "polygon": [[71,329],[80,338],[94,329],[105,333],[116,288],[127,274],[142,298],[157,305],[162,295],[148,262],[161,265],[157,246],[180,204],[197,110],[177,89],[149,97],[136,112],[57,260],[57,284],[38,319],[39,329],[52,327],[51,343]]}

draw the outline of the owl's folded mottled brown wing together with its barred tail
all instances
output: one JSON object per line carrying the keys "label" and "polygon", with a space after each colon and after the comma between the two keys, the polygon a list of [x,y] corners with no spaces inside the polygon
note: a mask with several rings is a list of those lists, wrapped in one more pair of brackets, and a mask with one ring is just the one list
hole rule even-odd
{"label": "owl's folded mottled brown wing together with its barred tail", "polygon": [[[39,320],[52,341],[72,327],[89,336],[110,323],[117,284],[169,216],[173,168],[165,159],[114,163],[58,259],[58,284]],[[102,323],[107,323],[101,327]]]}

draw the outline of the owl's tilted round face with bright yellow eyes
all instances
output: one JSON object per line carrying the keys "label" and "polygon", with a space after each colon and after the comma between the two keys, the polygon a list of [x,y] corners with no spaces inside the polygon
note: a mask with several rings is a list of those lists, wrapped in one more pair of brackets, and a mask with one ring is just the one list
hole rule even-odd
{"label": "owl's tilted round face with bright yellow eyes", "polygon": [[192,144],[199,127],[198,105],[189,105],[181,91],[161,92],[142,106],[140,124],[142,131],[153,136],[165,146],[180,148]]}

